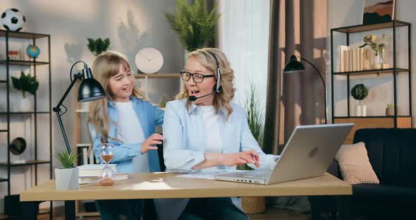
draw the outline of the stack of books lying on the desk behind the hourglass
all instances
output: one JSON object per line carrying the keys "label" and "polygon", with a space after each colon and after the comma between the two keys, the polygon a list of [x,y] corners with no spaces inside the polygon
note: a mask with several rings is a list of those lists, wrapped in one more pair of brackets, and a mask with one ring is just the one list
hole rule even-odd
{"label": "stack of books lying on the desk behind the hourglass", "polygon": [[[79,184],[98,183],[99,178],[102,175],[102,169],[105,164],[85,164],[77,166],[80,172]],[[117,173],[117,165],[109,164],[110,168],[116,173],[116,181],[126,180],[128,178],[127,173]]]}

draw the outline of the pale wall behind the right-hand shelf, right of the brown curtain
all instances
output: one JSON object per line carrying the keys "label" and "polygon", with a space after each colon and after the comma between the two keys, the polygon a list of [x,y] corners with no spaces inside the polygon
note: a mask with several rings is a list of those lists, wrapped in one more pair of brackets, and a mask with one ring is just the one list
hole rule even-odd
{"label": "pale wall behind the right-hand shelf, right of the brown curtain", "polygon": [[[336,27],[344,27],[349,25],[360,25],[362,23],[362,7],[363,7],[363,0],[353,0],[353,1],[343,1],[343,0],[331,0],[328,1],[328,27],[336,28]],[[395,19],[396,20],[403,20],[405,22],[411,23],[412,25],[416,22],[416,16],[414,13],[413,8],[416,7],[416,1],[412,0],[400,0],[396,1],[396,13]],[[369,32],[362,32],[360,34],[354,34],[350,36],[350,43],[354,46],[358,46],[362,44],[362,37],[366,34],[375,34],[381,36],[383,33],[389,37],[387,40],[387,55],[386,59],[389,61],[390,65],[392,66],[393,57],[392,57],[392,30],[377,30],[377,31],[369,31]],[[407,28],[399,27],[397,29],[397,39],[396,45],[398,48],[398,56],[397,56],[397,63],[399,67],[407,68],[408,66],[408,49],[407,49]],[[415,28],[412,27],[412,54],[415,54]],[[330,32],[328,32],[328,39],[330,39]],[[335,44],[345,44],[345,38],[341,37],[341,35],[334,35]],[[328,40],[328,51],[330,51],[331,41]],[[334,54],[338,47],[334,48]],[[330,78],[331,75],[331,54],[329,54],[329,58],[327,61],[327,77]],[[336,58],[336,56],[334,56]],[[413,71],[415,70],[415,59],[412,59],[412,114],[415,114],[415,74]],[[408,109],[408,81],[407,81],[407,73],[400,73],[398,77],[398,114],[409,114]],[[334,104],[335,104],[335,112],[336,116],[345,116],[346,115],[346,106],[347,106],[347,97],[346,97],[346,83],[345,77],[337,77],[334,78]],[[363,103],[367,105],[367,115],[384,115],[384,111],[386,109],[387,103],[393,103],[393,80],[391,75],[371,75],[368,77],[352,77],[350,78],[350,87],[357,83],[364,83],[369,87],[369,95],[367,99],[363,100]],[[331,101],[331,88],[328,88],[329,92],[329,101]],[[354,113],[354,104],[357,101],[355,99],[350,98],[350,113],[353,115]],[[331,106],[331,103],[329,103]],[[329,118],[331,117],[331,112],[329,112]],[[415,117],[413,117],[413,124],[415,124]]]}

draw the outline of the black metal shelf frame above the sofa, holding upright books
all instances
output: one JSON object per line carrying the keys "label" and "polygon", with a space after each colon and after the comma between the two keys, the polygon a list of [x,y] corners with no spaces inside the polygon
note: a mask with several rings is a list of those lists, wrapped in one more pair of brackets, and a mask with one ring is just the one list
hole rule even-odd
{"label": "black metal shelf frame above the sofa, holding upright books", "polygon": [[[407,27],[408,29],[408,67],[398,68],[396,66],[396,28]],[[349,72],[335,72],[334,71],[334,32],[342,32],[346,35],[346,45],[350,45],[350,34],[357,32],[365,32],[369,30],[381,30],[389,29],[393,30],[393,68],[376,69],[367,71],[349,71]],[[397,114],[397,75],[398,73],[408,73],[409,82],[409,116],[412,118],[412,25],[410,23],[401,20],[392,20],[388,23],[380,23],[373,25],[352,25],[347,27],[331,28],[331,112],[332,121],[334,118],[394,118],[394,128],[397,128],[397,118],[404,117],[398,116]],[[394,116],[365,116],[355,117],[350,115],[350,75],[369,75],[369,74],[390,74],[393,78],[393,102],[394,102]],[[335,116],[335,105],[334,105],[334,75],[346,75],[347,77],[347,116]]]}

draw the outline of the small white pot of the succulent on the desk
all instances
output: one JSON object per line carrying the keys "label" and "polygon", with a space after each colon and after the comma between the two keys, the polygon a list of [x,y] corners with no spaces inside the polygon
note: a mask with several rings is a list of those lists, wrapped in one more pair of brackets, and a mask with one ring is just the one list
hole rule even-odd
{"label": "small white pot of the succulent on the desk", "polygon": [[71,169],[56,168],[56,190],[78,190],[80,187],[80,185],[78,185],[79,178],[80,171],[78,170],[78,167]]}

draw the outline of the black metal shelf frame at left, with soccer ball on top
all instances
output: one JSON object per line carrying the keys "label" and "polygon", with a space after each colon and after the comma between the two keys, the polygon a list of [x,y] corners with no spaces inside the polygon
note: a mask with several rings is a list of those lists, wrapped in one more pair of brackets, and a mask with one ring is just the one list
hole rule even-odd
{"label": "black metal shelf frame at left, with soccer ball on top", "polygon": [[[47,57],[48,61],[37,61],[36,58],[33,58],[30,61],[21,61],[21,60],[11,60],[6,55],[6,59],[0,60],[0,65],[6,66],[6,80],[0,80],[1,83],[6,83],[6,112],[1,112],[1,115],[6,114],[7,118],[7,128],[6,130],[1,130],[1,132],[7,133],[7,161],[1,162],[0,166],[6,167],[7,169],[7,178],[1,178],[0,181],[7,181],[7,195],[11,195],[11,169],[16,166],[35,166],[35,185],[37,185],[37,165],[39,164],[49,164],[49,178],[52,179],[52,90],[51,90],[51,36],[39,33],[32,33],[32,32],[12,32],[6,30],[0,30],[0,37],[5,38],[6,41],[6,51],[5,54],[8,54],[9,50],[9,39],[10,38],[17,38],[17,39],[27,39],[31,40],[33,45],[36,45],[36,39],[47,39]],[[30,112],[11,112],[10,111],[10,89],[11,89],[11,80],[10,80],[10,66],[29,66],[33,68],[33,75],[37,76],[37,68],[36,66],[40,65],[47,65],[48,66],[48,89],[49,89],[49,111],[37,111],[37,94],[34,95],[34,111]],[[10,143],[11,143],[11,116],[18,115],[18,114],[30,114],[34,116],[34,123],[35,123],[35,142],[34,142],[34,149],[35,149],[35,158],[31,161],[26,161],[24,164],[13,164],[11,163],[11,152],[10,152]],[[39,160],[37,158],[37,115],[38,114],[49,114],[49,161]],[[49,219],[53,219],[52,214],[52,202],[50,203],[49,207]]]}

